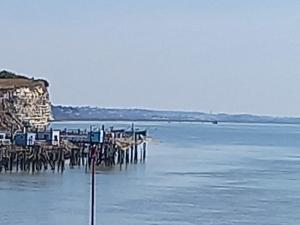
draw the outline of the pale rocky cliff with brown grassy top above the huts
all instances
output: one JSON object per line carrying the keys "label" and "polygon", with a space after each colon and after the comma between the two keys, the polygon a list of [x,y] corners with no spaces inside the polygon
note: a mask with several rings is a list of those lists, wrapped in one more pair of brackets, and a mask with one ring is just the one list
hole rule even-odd
{"label": "pale rocky cliff with brown grassy top above the huts", "polygon": [[49,125],[48,82],[0,72],[0,130],[43,130]]}

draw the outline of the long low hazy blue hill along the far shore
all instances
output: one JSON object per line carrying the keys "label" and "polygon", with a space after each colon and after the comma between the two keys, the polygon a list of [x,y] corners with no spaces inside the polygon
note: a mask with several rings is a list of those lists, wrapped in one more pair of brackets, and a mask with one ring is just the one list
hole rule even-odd
{"label": "long low hazy blue hill along the far shore", "polygon": [[52,106],[55,120],[112,121],[186,121],[300,124],[300,118],[256,116],[248,114],[208,114],[203,112],[116,109],[98,107]]}

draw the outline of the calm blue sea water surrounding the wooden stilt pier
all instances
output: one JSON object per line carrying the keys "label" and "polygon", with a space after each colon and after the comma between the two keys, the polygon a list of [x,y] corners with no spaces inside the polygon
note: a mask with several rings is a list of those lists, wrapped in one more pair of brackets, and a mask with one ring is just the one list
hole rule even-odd
{"label": "calm blue sea water surrounding the wooden stilt pier", "polygon": [[[52,127],[90,124],[60,122]],[[147,162],[97,171],[97,225],[300,223],[300,126],[137,126],[153,137]],[[89,185],[83,168],[64,174],[2,173],[0,224],[87,225]]]}

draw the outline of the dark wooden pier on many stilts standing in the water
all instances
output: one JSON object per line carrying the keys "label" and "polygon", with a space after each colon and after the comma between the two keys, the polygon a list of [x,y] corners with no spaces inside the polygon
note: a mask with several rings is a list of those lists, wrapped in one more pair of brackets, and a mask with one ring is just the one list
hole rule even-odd
{"label": "dark wooden pier on many stilts standing in the water", "polygon": [[37,142],[32,146],[0,145],[0,173],[28,172],[46,170],[63,173],[64,170],[82,167],[89,171],[92,166],[92,152],[95,164],[101,168],[119,165],[144,163],[147,152],[147,131],[132,129],[103,131],[103,140],[94,143],[87,133],[61,131],[59,145]]}

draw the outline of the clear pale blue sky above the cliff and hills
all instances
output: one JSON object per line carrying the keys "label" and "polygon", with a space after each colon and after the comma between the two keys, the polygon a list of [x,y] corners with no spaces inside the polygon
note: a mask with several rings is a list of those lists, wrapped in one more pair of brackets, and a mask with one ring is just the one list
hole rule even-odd
{"label": "clear pale blue sky above the cliff and hills", "polygon": [[54,104],[300,116],[298,0],[1,0],[0,69]]}

